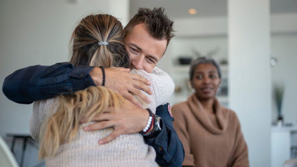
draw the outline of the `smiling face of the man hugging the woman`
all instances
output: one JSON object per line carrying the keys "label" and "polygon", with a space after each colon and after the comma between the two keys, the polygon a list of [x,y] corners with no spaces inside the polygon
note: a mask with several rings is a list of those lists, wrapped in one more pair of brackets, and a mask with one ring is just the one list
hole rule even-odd
{"label": "smiling face of the man hugging the woman", "polygon": [[132,67],[152,73],[166,51],[167,40],[158,40],[146,31],[144,24],[136,25],[125,38]]}

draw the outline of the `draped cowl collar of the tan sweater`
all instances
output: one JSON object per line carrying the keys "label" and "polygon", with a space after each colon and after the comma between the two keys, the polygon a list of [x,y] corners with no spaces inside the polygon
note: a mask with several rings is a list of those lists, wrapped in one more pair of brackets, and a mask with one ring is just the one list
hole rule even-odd
{"label": "draped cowl collar of the tan sweater", "polygon": [[219,101],[214,99],[214,114],[217,118],[220,128],[212,125],[211,120],[208,116],[208,111],[205,111],[201,102],[198,100],[197,96],[192,94],[188,97],[187,104],[191,109],[192,113],[196,116],[198,121],[211,133],[221,134],[224,133],[228,126],[228,110],[222,107]]}

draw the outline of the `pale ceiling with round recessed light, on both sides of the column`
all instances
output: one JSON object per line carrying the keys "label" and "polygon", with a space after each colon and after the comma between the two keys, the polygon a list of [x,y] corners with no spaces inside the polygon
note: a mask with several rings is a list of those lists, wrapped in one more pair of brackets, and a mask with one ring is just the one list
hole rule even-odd
{"label": "pale ceiling with round recessed light, on both sides of the column", "polygon": [[[164,7],[170,18],[212,17],[227,15],[227,0],[130,0],[130,17],[139,7]],[[197,14],[190,15],[189,8]],[[271,13],[297,12],[297,0],[271,0]]]}

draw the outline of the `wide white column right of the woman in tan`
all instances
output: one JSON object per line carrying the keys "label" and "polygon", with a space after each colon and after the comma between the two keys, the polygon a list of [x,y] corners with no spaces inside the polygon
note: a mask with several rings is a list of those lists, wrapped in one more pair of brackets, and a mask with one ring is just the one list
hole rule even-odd
{"label": "wide white column right of the woman in tan", "polygon": [[250,166],[270,166],[269,0],[228,0],[229,103],[241,122]]}

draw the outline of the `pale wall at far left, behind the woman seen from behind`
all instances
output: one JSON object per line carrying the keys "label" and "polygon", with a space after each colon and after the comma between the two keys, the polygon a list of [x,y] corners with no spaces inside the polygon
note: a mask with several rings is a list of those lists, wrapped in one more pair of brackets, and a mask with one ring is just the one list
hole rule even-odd
{"label": "pale wall at far left, behind the woman seen from behind", "polygon": [[[129,0],[2,0],[0,3],[1,90],[4,78],[19,68],[67,61],[75,23],[87,14],[107,12],[120,18],[123,24],[129,18]],[[14,103],[0,92],[2,137],[6,133],[29,133],[31,114],[32,105]],[[18,160],[19,151],[16,150]],[[24,165],[35,165],[36,155],[35,152],[32,155],[35,157],[25,160]]]}

